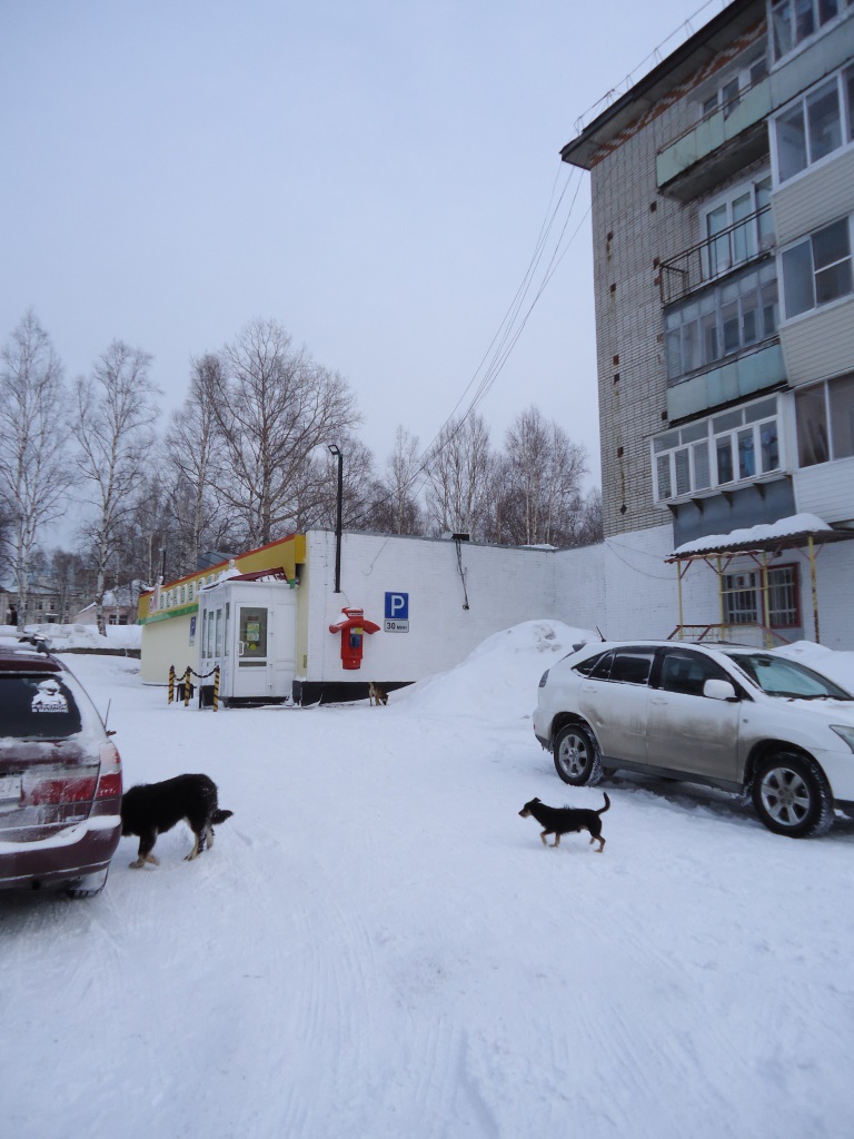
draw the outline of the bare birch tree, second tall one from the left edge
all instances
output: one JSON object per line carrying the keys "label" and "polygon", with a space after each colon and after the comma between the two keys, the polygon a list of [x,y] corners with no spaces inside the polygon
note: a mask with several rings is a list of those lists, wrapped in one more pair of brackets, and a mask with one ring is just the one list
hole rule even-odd
{"label": "bare birch tree, second tall one from the left edge", "polygon": [[91,376],[81,376],[75,385],[74,436],[93,507],[84,532],[96,573],[96,617],[101,633],[107,571],[134,509],[154,443],[158,411],[153,399],[156,390],[148,380],[150,362],[147,352],[113,341]]}

